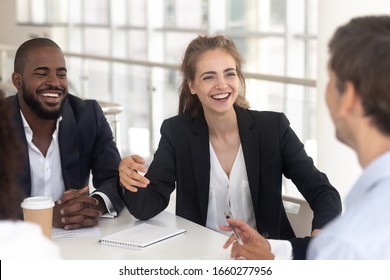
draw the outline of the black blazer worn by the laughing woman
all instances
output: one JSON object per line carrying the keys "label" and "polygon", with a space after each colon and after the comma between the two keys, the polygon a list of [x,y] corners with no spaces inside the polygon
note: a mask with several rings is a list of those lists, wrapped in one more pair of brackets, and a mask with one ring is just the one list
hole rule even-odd
{"label": "black blazer worn by the laughing woman", "polygon": [[[258,231],[267,238],[295,237],[282,203],[282,174],[314,211],[312,228],[341,212],[339,193],[307,156],[282,113],[235,108]],[[125,191],[127,209],[149,219],[163,211],[176,187],[176,214],[206,225],[210,182],[209,134],[203,115],[179,115],[161,126],[161,139],[147,174],[150,185]]]}

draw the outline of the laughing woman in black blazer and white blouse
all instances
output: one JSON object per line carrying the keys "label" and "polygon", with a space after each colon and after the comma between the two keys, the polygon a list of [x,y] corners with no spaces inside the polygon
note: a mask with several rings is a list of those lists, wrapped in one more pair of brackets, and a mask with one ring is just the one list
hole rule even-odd
{"label": "laughing woman in black blazer and white blouse", "polygon": [[263,236],[292,238],[283,174],[313,209],[313,233],[341,212],[339,193],[314,166],[286,116],[248,109],[242,60],[225,36],[201,35],[189,44],[179,114],[163,122],[148,170],[137,156],[119,166],[123,200],[136,218],[163,211],[176,186],[181,217],[219,231],[230,211]]}

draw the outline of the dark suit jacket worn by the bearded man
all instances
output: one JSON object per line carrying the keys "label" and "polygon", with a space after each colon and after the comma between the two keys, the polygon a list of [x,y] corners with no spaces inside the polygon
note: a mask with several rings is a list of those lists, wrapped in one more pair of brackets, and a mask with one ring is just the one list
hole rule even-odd
{"label": "dark suit jacket worn by the bearded man", "polygon": [[[19,183],[24,196],[30,196],[28,144],[17,95],[8,97],[7,102],[23,147],[24,165]],[[121,158],[99,104],[95,100],[82,100],[68,94],[63,104],[58,139],[65,188],[79,189],[89,185],[92,171],[93,186],[109,197],[119,213],[123,208],[118,192],[118,166]]]}

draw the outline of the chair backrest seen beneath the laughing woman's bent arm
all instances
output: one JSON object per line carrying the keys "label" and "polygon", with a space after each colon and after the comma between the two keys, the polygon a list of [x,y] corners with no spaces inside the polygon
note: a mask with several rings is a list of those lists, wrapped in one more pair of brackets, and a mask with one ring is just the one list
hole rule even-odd
{"label": "chair backrest seen beneath the laughing woman's bent arm", "polygon": [[311,235],[311,223],[313,220],[313,211],[306,200],[283,195],[283,204],[286,210],[287,218],[297,237]]}

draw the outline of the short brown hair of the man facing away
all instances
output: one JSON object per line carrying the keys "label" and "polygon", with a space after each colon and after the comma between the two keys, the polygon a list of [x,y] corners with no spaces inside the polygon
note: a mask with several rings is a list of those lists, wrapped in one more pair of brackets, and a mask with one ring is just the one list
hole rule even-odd
{"label": "short brown hair of the man facing away", "polygon": [[329,51],[340,93],[352,82],[366,116],[390,135],[390,16],[352,19],[336,30]]}

